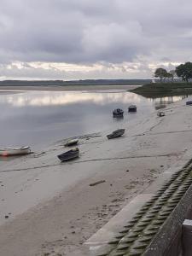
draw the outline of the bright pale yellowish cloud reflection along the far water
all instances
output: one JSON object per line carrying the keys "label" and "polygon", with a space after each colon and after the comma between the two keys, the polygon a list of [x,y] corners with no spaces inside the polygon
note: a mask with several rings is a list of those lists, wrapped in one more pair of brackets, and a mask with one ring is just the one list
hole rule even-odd
{"label": "bright pale yellowish cloud reflection along the far water", "polygon": [[9,103],[15,107],[59,106],[83,102],[106,105],[108,102],[140,102],[140,96],[125,91],[113,92],[79,92],[79,91],[29,91],[15,95],[2,95],[0,103]]}

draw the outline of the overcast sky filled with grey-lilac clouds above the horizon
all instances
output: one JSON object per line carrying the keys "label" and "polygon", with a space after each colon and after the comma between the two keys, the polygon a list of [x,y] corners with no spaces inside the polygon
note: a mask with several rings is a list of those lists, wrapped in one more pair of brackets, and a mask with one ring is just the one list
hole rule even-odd
{"label": "overcast sky filled with grey-lilac clouds above the horizon", "polygon": [[191,0],[0,0],[0,79],[146,79],[185,61]]}

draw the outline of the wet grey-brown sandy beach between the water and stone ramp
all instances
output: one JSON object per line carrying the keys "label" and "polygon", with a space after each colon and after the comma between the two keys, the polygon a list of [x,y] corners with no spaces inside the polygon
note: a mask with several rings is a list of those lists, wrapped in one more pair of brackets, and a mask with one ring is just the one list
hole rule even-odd
{"label": "wet grey-brown sandy beach between the water and stone ramp", "polygon": [[160,173],[185,163],[191,107],[183,100],[165,113],[136,119],[118,139],[108,140],[109,131],[79,137],[79,159],[72,162],[56,158],[65,141],[1,161],[1,255],[73,255]]}

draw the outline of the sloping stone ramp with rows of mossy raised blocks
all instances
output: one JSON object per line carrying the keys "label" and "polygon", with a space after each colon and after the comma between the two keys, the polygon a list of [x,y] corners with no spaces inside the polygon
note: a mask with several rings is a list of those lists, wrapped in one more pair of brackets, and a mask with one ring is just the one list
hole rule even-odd
{"label": "sloping stone ramp with rows of mossy raised blocks", "polygon": [[183,220],[192,212],[191,183],[192,160],[164,172],[72,255],[177,256]]}

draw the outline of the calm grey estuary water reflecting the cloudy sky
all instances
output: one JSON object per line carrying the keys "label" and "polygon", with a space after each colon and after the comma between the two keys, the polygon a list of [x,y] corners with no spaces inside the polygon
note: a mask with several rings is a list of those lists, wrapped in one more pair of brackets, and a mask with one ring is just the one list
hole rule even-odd
{"label": "calm grey estuary water reflecting the cloudy sky", "polygon": [[[0,93],[1,148],[26,144],[37,148],[66,137],[113,131],[182,98],[150,100],[119,90]],[[127,112],[132,103],[137,105],[137,113]],[[113,119],[114,108],[125,110],[124,119]]]}

